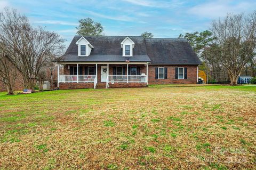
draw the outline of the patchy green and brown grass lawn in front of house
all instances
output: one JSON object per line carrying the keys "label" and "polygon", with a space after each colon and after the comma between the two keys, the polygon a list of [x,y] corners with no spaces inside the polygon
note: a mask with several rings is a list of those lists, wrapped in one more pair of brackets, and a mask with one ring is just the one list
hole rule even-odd
{"label": "patchy green and brown grass lawn in front of house", "polygon": [[256,86],[0,93],[0,169],[255,169]]}

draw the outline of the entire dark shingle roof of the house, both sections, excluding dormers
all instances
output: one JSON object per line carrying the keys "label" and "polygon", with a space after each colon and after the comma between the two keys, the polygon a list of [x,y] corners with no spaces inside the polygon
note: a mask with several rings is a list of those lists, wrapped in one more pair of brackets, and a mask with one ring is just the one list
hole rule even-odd
{"label": "entire dark shingle roof of the house, both sections, excluding dormers", "polygon": [[[76,42],[82,36],[75,36],[60,61],[106,62],[125,61],[121,42],[127,36],[84,36],[94,47],[89,56],[78,56]],[[151,62],[153,64],[201,64],[196,53],[185,39],[144,39],[128,36],[134,43],[131,62]]]}

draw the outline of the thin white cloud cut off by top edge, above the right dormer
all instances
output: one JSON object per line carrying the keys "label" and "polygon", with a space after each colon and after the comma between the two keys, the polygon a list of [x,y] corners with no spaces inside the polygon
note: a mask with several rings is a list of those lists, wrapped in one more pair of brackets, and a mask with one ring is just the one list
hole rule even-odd
{"label": "thin white cloud cut off by top edge, above the right dormer", "polygon": [[134,5],[140,5],[140,6],[146,6],[146,7],[165,7],[165,8],[172,8],[176,7],[178,5],[183,4],[182,2],[178,0],[174,1],[153,1],[153,0],[122,0],[124,2],[128,2]]}

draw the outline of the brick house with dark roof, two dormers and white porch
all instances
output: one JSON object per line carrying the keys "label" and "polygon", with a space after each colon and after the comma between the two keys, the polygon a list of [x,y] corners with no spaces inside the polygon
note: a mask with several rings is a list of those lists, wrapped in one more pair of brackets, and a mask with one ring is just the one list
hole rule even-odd
{"label": "brick house with dark roof, two dormers and white porch", "polygon": [[75,36],[57,62],[58,87],[146,87],[196,84],[201,61],[186,39]]}

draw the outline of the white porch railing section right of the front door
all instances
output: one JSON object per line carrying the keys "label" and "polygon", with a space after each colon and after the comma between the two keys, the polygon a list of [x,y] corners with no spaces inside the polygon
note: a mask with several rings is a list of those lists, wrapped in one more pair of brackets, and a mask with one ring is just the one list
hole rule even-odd
{"label": "white porch railing section right of the front door", "polygon": [[[128,81],[127,81],[128,78]],[[109,82],[114,83],[146,83],[146,75],[109,75]]]}

